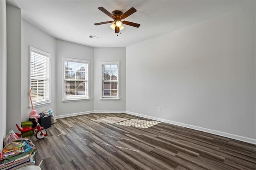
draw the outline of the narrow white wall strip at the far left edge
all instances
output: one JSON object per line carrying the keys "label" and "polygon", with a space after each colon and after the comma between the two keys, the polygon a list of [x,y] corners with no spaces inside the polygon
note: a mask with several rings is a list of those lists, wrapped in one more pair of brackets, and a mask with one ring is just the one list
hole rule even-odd
{"label": "narrow white wall strip at the far left edge", "polygon": [[6,136],[6,1],[0,1],[0,150]]}

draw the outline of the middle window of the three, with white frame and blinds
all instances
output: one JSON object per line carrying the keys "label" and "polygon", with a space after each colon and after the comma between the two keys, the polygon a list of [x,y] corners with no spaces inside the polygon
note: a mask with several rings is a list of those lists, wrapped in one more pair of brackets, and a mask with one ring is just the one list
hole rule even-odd
{"label": "middle window of the three, with white frame and blinds", "polygon": [[89,99],[89,61],[72,58],[63,58],[63,61],[63,100]]}

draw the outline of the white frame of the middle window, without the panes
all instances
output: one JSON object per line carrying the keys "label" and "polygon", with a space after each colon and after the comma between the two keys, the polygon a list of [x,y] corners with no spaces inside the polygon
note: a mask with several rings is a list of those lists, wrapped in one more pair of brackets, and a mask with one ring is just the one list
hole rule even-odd
{"label": "white frame of the middle window, without the panes", "polygon": [[[86,63],[88,64],[86,74],[87,78],[87,97],[86,96],[75,96],[75,97],[66,97],[66,84],[65,84],[65,61],[76,62],[76,63]],[[62,58],[62,102],[72,102],[72,101],[82,101],[90,99],[90,61],[84,59],[75,59],[70,57]],[[77,81],[74,79],[74,81]],[[86,81],[86,80],[85,80]]]}

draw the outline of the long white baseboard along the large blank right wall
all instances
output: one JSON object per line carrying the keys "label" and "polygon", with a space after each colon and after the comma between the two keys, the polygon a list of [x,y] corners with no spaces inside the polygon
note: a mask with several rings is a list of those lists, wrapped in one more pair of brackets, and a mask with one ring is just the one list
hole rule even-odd
{"label": "long white baseboard along the large blank right wall", "polygon": [[155,121],[160,121],[160,122],[169,123],[169,124],[172,124],[172,125],[178,125],[178,126],[181,126],[181,127],[200,130],[200,131],[203,131],[203,132],[208,132],[208,133],[211,133],[211,134],[216,134],[216,135],[219,135],[219,136],[224,136],[224,137],[227,137],[227,138],[236,139],[236,140],[240,140],[240,141],[243,141],[243,142],[256,144],[256,139],[253,139],[253,138],[247,138],[247,137],[244,137],[244,136],[238,136],[236,134],[230,134],[230,133],[221,132],[221,131],[218,131],[218,130],[212,130],[212,129],[208,129],[208,128],[197,127],[197,126],[188,125],[188,124],[185,124],[185,123],[169,121],[169,120],[166,120],[166,119],[160,119],[160,118],[157,118],[157,117],[142,115],[142,114],[133,113],[133,112],[130,112],[130,111],[126,111],[126,113],[129,114],[129,115],[144,117],[144,118],[152,119],[152,120],[155,120]]}

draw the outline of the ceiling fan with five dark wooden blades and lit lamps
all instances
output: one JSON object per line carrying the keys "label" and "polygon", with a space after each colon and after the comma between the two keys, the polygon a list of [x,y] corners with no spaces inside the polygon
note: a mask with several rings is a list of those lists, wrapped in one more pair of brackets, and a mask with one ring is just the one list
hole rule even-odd
{"label": "ceiling fan with five dark wooden blades and lit lamps", "polygon": [[137,11],[133,7],[130,8],[128,11],[124,12],[124,13],[122,11],[115,10],[115,11],[112,12],[112,14],[110,12],[108,12],[103,7],[99,7],[98,9],[101,10],[102,12],[104,12],[106,15],[110,16],[110,18],[112,18],[114,21],[106,21],[106,22],[95,23],[94,25],[96,25],[96,26],[101,25],[101,24],[108,24],[108,23],[114,22],[110,27],[113,30],[115,30],[115,33],[118,33],[118,32],[120,32],[120,30],[124,29],[124,26],[122,24],[137,27],[137,28],[139,28],[139,26],[140,26],[140,24],[137,24],[137,23],[134,23],[134,22],[121,21],[121,20],[127,18],[128,16],[132,15],[134,12]]}

